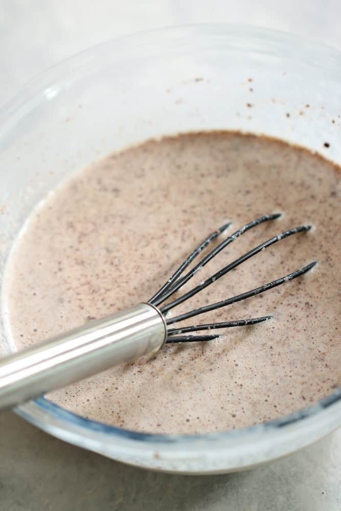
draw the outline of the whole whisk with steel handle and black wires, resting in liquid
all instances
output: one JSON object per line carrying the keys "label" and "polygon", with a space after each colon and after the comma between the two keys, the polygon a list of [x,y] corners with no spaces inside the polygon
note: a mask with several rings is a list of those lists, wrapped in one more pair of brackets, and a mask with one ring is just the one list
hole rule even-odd
{"label": "whole whisk with steel handle and black wires, resting in liquid", "polygon": [[[311,228],[310,225],[300,225],[270,238],[224,266],[201,284],[176,298],[174,297],[180,288],[230,243],[249,229],[257,227],[263,222],[274,221],[280,216],[280,213],[264,215],[247,223],[216,245],[211,252],[186,272],[200,252],[222,236],[231,226],[231,223],[225,223],[193,250],[168,281],[146,303],[103,319],[89,321],[83,327],[5,357],[0,363],[0,409],[24,403],[48,391],[92,376],[113,365],[155,353],[165,343],[211,341],[219,337],[219,334],[207,333],[208,331],[245,327],[271,319],[272,316],[262,316],[237,321],[193,324],[185,327],[178,325],[181,321],[221,307],[227,307],[291,281],[313,268],[316,261],[277,278],[275,281],[217,303],[177,316],[167,317],[167,313],[260,251],[284,238],[307,232]],[[198,332],[204,333],[200,335]]]}

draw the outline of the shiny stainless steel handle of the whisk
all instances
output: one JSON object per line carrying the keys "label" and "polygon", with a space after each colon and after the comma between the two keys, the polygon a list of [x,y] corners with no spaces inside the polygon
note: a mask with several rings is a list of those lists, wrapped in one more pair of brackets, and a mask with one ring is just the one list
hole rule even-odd
{"label": "shiny stainless steel handle of the whisk", "polygon": [[161,312],[139,304],[5,357],[0,362],[0,409],[156,352],[166,336]]}

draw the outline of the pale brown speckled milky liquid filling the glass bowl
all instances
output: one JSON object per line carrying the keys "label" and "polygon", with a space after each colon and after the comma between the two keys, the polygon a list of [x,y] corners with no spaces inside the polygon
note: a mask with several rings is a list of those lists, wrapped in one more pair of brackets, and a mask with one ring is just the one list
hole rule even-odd
{"label": "pale brown speckled milky liquid filling the glass bowl", "polygon": [[209,343],[167,345],[53,392],[61,406],[146,432],[251,426],[316,403],[341,385],[341,174],[319,156],[264,137],[166,137],[113,154],[59,187],[31,216],[8,266],[19,347],[148,300],[186,255],[226,221],[268,213],[181,293],[259,243],[282,240],[174,309],[253,289],[317,260],[295,281],[187,324],[273,314]]}

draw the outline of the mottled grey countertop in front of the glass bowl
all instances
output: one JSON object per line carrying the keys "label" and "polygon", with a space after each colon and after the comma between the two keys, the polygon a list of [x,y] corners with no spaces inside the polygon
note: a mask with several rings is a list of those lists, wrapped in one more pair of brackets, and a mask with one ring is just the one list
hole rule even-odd
{"label": "mottled grey countertop in front of the glass bowl", "polygon": [[340,511],[341,428],[267,466],[183,476],[135,469],[0,415],[1,511]]}

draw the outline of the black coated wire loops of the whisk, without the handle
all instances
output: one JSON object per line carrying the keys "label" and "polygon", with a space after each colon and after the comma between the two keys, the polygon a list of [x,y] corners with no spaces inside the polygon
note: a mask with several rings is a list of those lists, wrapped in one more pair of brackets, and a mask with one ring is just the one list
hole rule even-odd
{"label": "black coated wire loops of the whisk, without the handle", "polygon": [[[162,304],[165,300],[167,300],[170,296],[172,296],[180,287],[182,287],[184,284],[186,284],[203,266],[206,266],[221,250],[223,250],[226,246],[228,246],[230,243],[232,243],[235,239],[239,238],[242,234],[244,234],[247,230],[256,227],[257,225],[260,225],[263,222],[269,221],[269,220],[275,220],[281,216],[280,213],[272,214],[272,215],[264,215],[260,218],[257,218],[256,220],[253,220],[252,222],[249,222],[248,224],[244,225],[235,233],[233,233],[231,236],[226,238],[224,241],[222,241],[219,245],[217,245],[208,255],[206,255],[199,263],[197,263],[186,275],[180,276],[186,268],[191,264],[191,262],[199,255],[199,253],[206,248],[210,243],[212,243],[218,236],[220,236],[230,225],[231,223],[226,223],[216,231],[210,234],[200,245],[193,250],[193,252],[188,256],[188,258],[177,268],[177,270],[173,273],[173,275],[169,278],[169,280],[161,287],[160,290],[157,291],[157,293],[154,294],[154,296],[149,300],[149,303],[154,305],[155,307],[158,307],[160,304]],[[274,245],[275,243],[279,242],[280,240],[284,238],[288,238],[289,236],[306,232],[310,230],[310,225],[301,225],[298,227],[294,227],[292,229],[286,230],[283,233],[279,234],[278,236],[274,236],[270,238],[269,240],[265,241],[264,243],[261,243],[260,245],[257,245],[252,250],[249,250],[246,254],[242,255],[240,258],[236,259],[232,263],[224,266],[221,270],[214,273],[211,277],[207,278],[206,281],[199,284],[198,286],[194,287],[184,295],[174,299],[173,301],[170,301],[167,305],[163,307],[158,307],[163,315],[166,315],[167,312],[176,307],[177,305],[183,303],[184,301],[188,300],[195,294],[199,293],[206,287],[213,284],[218,278],[221,278],[223,275],[231,271],[232,269],[236,268],[240,264],[242,264],[247,259],[252,258],[254,255],[259,253],[261,250],[265,250],[271,245]],[[307,266],[296,270],[292,273],[289,273],[283,277],[280,277],[276,279],[275,281],[269,282],[267,284],[264,284],[258,288],[252,289],[251,291],[247,291],[245,293],[241,293],[236,296],[232,296],[228,299],[219,301],[215,304],[211,304],[208,306],[200,307],[198,309],[195,309],[193,311],[186,312],[184,314],[180,314],[178,316],[172,317],[172,318],[166,318],[167,326],[177,323],[179,321],[184,321],[186,319],[189,319],[193,316],[197,316],[199,314],[203,314],[205,312],[209,312],[215,309],[219,309],[221,307],[226,307],[228,305],[234,304],[237,301],[244,300],[246,298],[250,298],[252,296],[256,296],[257,294],[263,293],[269,289],[272,289],[274,287],[280,286],[281,284],[284,284],[285,282],[288,282],[290,280],[293,280],[294,278],[297,278],[307,271],[309,271],[311,268],[313,268],[316,264],[316,261],[308,264]],[[220,337],[219,334],[207,334],[207,335],[176,335],[176,334],[186,334],[188,332],[197,332],[201,330],[211,330],[211,329],[225,329],[225,328],[231,328],[231,327],[241,327],[241,326],[247,326],[247,325],[253,325],[256,323],[260,323],[263,321],[266,321],[268,319],[271,319],[272,316],[262,316],[259,318],[251,318],[251,319],[241,319],[237,321],[224,321],[220,323],[206,323],[206,324],[198,324],[193,325],[190,327],[179,327],[179,328],[171,328],[168,329],[167,333],[167,343],[174,343],[174,342],[196,342],[196,341],[209,341],[216,339]]]}

